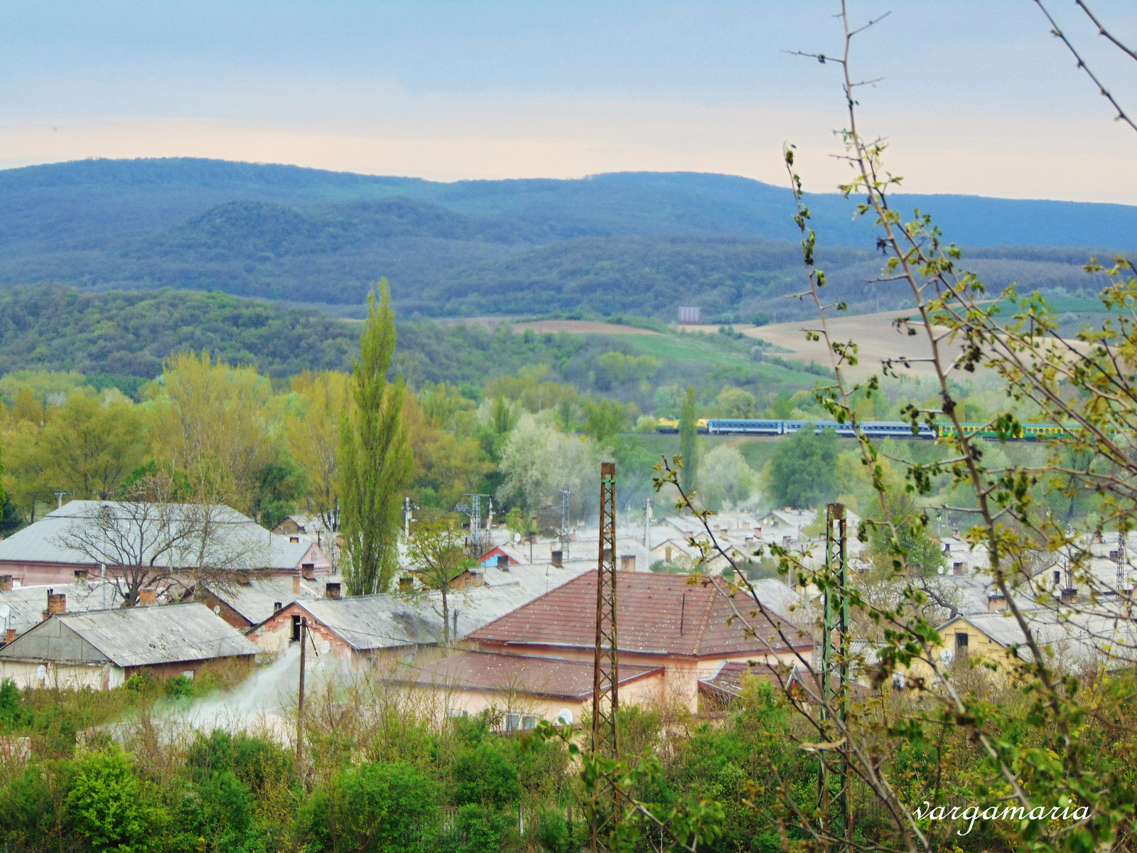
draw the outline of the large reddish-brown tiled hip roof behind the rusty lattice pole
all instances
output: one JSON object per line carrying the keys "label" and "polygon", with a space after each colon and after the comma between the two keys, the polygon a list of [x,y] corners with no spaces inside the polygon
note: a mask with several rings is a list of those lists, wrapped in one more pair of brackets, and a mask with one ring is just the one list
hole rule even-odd
{"label": "large reddish-brown tiled hip roof behind the rusty lattice pole", "polygon": [[[739,597],[738,608],[758,637],[748,637],[730,602],[714,587],[689,585],[686,574],[619,572],[616,623],[620,649],[648,654],[721,656],[788,651],[773,626]],[[813,640],[785,626],[796,648]],[[478,629],[467,639],[487,644],[596,646],[596,573],[589,572]]]}

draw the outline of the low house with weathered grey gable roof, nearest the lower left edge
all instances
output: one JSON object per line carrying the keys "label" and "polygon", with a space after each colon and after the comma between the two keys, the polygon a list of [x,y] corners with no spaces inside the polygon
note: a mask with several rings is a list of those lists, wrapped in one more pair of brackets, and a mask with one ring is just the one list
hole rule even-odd
{"label": "low house with weathered grey gable roof, nearest the lower left edge", "polygon": [[148,671],[194,678],[214,661],[251,666],[259,649],[204,604],[53,613],[0,648],[17,687],[107,690]]}

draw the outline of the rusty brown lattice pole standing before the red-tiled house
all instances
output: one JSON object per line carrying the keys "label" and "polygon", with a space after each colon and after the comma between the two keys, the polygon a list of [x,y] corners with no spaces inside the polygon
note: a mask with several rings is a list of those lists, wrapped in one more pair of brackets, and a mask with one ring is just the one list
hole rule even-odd
{"label": "rusty brown lattice pole standing before the red-tiled house", "polygon": [[[567,504],[567,502],[566,502]],[[620,711],[620,659],[616,632],[616,464],[600,463],[600,553],[596,565],[596,656],[592,666],[592,753],[619,757],[616,714]],[[597,790],[592,796],[597,797]],[[612,817],[619,808],[613,789]],[[592,851],[599,843],[597,810],[592,813]]]}

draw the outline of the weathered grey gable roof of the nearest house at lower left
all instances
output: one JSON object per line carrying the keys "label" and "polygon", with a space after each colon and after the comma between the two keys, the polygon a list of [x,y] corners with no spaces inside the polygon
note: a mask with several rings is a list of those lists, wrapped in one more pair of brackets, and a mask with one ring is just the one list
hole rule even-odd
{"label": "weathered grey gable roof of the nearest house at lower left", "polygon": [[[255,643],[198,602],[161,607],[124,607],[63,613],[0,648],[0,657],[27,659],[36,633],[61,623],[116,666],[147,666],[215,657],[255,655]],[[44,655],[45,656],[45,655]]]}

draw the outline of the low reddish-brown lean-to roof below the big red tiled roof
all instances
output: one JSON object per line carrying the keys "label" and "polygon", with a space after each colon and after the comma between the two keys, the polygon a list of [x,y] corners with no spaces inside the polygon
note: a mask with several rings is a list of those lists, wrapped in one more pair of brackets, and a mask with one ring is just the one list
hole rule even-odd
{"label": "low reddish-brown lean-to roof below the big red tiled roof", "polygon": [[[662,666],[622,664],[620,684],[630,684],[658,672],[663,672]],[[463,652],[414,670],[409,680],[421,686],[520,691],[583,701],[592,695],[592,663],[491,652]]]}

